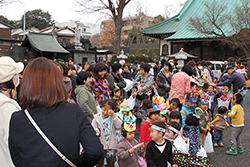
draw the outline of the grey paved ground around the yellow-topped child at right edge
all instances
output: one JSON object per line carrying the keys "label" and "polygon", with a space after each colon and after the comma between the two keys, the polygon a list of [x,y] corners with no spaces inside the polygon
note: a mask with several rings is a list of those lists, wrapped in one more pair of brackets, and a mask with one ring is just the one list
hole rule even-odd
{"label": "grey paved ground around the yellow-topped child at right edge", "polygon": [[231,128],[229,127],[224,131],[224,147],[214,149],[214,153],[208,155],[211,164],[214,167],[246,167],[250,166],[250,91],[245,99],[245,127],[241,134],[244,153],[237,156],[227,155],[226,151],[230,149],[230,134]]}

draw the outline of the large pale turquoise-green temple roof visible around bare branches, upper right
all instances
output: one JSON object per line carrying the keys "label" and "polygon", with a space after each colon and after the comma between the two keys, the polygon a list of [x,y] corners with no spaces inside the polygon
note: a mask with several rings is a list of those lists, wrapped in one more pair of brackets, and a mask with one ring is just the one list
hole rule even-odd
{"label": "large pale turquoise-green temple roof visible around bare branches, upper right", "polygon": [[[188,0],[182,10],[174,17],[162,21],[159,24],[144,28],[142,33],[144,35],[168,35],[165,40],[180,40],[180,39],[197,39],[197,38],[212,38],[213,35],[204,35],[190,30],[190,18],[202,17],[205,12],[204,3],[211,2],[211,0]],[[240,0],[217,0],[216,3],[226,4],[225,12],[232,12]],[[233,35],[233,30],[230,28],[229,23],[225,24],[223,29],[227,36]]]}

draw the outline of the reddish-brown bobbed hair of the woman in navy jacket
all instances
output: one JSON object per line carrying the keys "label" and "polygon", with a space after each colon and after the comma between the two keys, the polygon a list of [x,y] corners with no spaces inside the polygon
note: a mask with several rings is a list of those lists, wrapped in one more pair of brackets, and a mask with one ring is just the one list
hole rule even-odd
{"label": "reddish-brown bobbed hair of the woman in navy jacket", "polygon": [[48,108],[67,99],[63,76],[52,60],[39,57],[27,65],[20,87],[20,103],[24,108]]}

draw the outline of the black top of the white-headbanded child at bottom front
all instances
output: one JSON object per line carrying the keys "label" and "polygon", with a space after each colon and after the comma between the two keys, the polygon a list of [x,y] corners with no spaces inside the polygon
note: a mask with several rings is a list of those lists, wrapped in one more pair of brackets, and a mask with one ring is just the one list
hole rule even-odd
{"label": "black top of the white-headbanded child at bottom front", "polygon": [[169,162],[173,165],[172,160],[172,145],[169,140],[166,140],[166,147],[161,153],[155,146],[154,141],[150,141],[146,150],[146,161],[148,167],[167,167]]}

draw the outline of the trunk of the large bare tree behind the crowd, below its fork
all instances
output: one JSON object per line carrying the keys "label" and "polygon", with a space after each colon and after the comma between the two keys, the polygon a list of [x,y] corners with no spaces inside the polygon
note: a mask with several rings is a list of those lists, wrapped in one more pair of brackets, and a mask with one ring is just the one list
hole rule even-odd
{"label": "trunk of the large bare tree behind the crowd, below its fork", "polygon": [[115,39],[114,39],[114,53],[120,53],[120,44],[121,44],[121,31],[122,31],[122,15],[114,17],[115,22]]}

